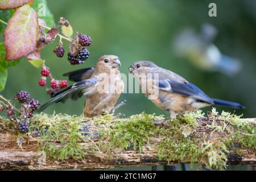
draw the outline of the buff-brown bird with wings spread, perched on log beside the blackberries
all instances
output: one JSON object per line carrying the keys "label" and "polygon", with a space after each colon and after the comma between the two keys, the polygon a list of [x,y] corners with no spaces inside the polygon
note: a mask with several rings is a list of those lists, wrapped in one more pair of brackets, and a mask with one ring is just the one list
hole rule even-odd
{"label": "buff-brown bird with wings spread, perched on log beside the blackberries", "polygon": [[98,59],[94,68],[65,73],[64,76],[76,83],[55,93],[38,112],[55,102],[65,102],[68,98],[77,100],[84,95],[84,117],[92,118],[110,113],[115,109],[114,105],[124,89],[121,73],[118,71],[120,66],[118,56],[104,55]]}

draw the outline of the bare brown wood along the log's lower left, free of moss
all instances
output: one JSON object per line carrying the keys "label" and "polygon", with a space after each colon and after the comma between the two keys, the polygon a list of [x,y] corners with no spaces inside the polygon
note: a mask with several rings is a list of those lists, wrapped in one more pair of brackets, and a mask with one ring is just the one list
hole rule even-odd
{"label": "bare brown wood along the log's lower left, free of moss", "polygon": [[[255,120],[254,120],[255,121]],[[155,139],[156,140],[156,139]],[[97,142],[97,139],[95,140]],[[154,141],[154,139],[152,139]],[[154,143],[154,142],[153,142]],[[0,168],[1,169],[103,169],[126,166],[159,166],[167,164],[159,161],[154,144],[143,146],[143,152],[126,150],[112,151],[111,154],[88,155],[80,160],[57,161],[46,158],[43,151],[37,151],[38,138],[28,137],[23,140],[22,148],[17,144],[15,135],[0,131]],[[86,143],[82,143],[86,145]],[[228,164],[256,164],[255,150],[242,150],[241,155],[230,152]],[[174,161],[169,165],[190,163]]]}

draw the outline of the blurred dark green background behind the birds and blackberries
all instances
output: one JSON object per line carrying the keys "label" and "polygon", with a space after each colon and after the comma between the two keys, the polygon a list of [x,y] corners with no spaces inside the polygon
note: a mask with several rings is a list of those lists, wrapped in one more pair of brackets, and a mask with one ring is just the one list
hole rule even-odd
{"label": "blurred dark green background behind the birds and blackberries", "polygon": [[[92,37],[89,47],[90,58],[83,65],[72,66],[67,56],[60,59],[53,49],[58,41],[42,51],[42,58],[51,68],[56,79],[65,79],[65,72],[93,67],[101,55],[113,54],[120,57],[122,73],[137,60],[151,60],[160,67],[170,69],[187,78],[209,96],[236,101],[246,106],[237,110],[244,117],[255,117],[256,90],[256,1],[220,0],[217,17],[208,16],[208,5],[213,1],[201,0],[108,0],[108,1],[48,1],[55,21],[63,16],[72,24],[74,31]],[[213,24],[218,30],[214,44],[222,53],[242,61],[242,70],[233,77],[220,72],[207,72],[195,67],[187,59],[175,56],[172,42],[186,27],[200,31],[202,24]],[[1,38],[2,39],[2,38]],[[66,50],[68,43],[64,42]],[[127,74],[128,75],[128,74]],[[9,68],[6,89],[1,93],[14,97],[18,90],[27,90],[42,104],[49,99],[45,88],[38,86],[40,70],[23,60],[16,67]],[[117,112],[126,116],[146,113],[166,114],[158,109],[143,94],[122,94],[120,101],[126,106]],[[68,101],[65,105],[54,104],[46,113],[82,114],[84,98]],[[232,111],[218,107],[218,110]],[[204,109],[204,111],[210,108]],[[168,115],[168,114],[166,114]]]}

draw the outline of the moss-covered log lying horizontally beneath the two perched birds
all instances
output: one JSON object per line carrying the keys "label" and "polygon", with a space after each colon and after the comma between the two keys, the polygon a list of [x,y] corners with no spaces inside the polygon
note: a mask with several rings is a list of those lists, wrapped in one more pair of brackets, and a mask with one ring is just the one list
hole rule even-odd
{"label": "moss-covered log lying horizontally beneath the two perched birds", "polygon": [[14,122],[0,118],[0,168],[100,169],[200,163],[225,169],[233,164],[256,164],[255,119],[226,113],[204,117],[200,112],[176,121],[158,122],[160,119],[146,114],[127,119],[41,114],[31,119],[30,133],[21,135]]}

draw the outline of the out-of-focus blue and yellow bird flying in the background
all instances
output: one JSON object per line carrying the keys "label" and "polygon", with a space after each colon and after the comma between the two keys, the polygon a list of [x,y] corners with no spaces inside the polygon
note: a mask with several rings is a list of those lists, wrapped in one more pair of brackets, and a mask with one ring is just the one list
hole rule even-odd
{"label": "out-of-focus blue and yellow bird flying in the background", "polygon": [[212,24],[203,24],[199,34],[192,28],[186,28],[174,40],[174,53],[185,57],[204,71],[217,71],[227,76],[234,76],[241,71],[242,63],[234,57],[224,55],[213,44],[216,35],[217,29]]}

